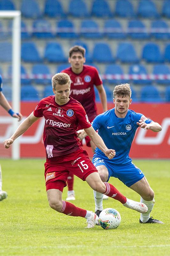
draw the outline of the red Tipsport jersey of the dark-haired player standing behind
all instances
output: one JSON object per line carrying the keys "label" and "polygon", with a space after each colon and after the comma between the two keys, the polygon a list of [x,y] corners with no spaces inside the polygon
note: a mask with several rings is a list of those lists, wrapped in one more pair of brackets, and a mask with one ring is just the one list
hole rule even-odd
{"label": "red Tipsport jersey of the dark-haired player standing behind", "polygon": [[92,66],[83,66],[83,71],[80,74],[75,74],[70,68],[62,70],[67,73],[71,79],[70,96],[78,100],[90,121],[97,116],[97,107],[95,104],[94,85],[102,84],[102,80],[96,68]]}

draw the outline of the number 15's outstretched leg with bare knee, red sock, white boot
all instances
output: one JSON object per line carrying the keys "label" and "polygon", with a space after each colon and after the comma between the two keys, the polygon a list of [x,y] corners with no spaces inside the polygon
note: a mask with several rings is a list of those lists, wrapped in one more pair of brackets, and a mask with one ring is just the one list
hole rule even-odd
{"label": "number 15's outstretched leg with bare knee, red sock, white boot", "polygon": [[129,209],[133,209],[141,213],[145,213],[148,211],[148,208],[146,207],[145,204],[135,202],[133,200],[126,198],[112,184],[102,182],[98,172],[93,172],[89,174],[86,177],[86,181],[93,190],[100,192],[102,194],[106,194],[107,196],[114,198],[115,200],[118,200]]}

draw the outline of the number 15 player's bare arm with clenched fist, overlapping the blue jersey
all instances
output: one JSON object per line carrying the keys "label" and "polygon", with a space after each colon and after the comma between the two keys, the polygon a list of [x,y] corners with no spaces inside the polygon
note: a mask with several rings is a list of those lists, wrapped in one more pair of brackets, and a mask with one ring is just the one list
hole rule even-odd
{"label": "number 15 player's bare arm with clenched fist, overlapping the blue jersey", "polygon": [[102,138],[99,136],[97,132],[93,129],[93,127],[89,127],[84,129],[86,134],[90,137],[92,142],[96,145],[96,147],[100,148],[100,150],[107,156],[109,159],[112,159],[115,156],[115,150],[114,149],[108,149],[102,140]]}

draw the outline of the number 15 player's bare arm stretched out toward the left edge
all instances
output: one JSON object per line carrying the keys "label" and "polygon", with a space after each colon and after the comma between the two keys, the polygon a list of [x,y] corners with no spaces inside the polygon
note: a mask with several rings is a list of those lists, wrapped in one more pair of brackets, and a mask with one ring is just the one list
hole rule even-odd
{"label": "number 15 player's bare arm stretched out toward the left edge", "polygon": [[33,112],[18,126],[18,129],[14,132],[11,138],[4,140],[4,147],[9,148],[11,144],[16,140],[20,135],[28,130],[28,128],[35,123],[40,117],[33,115]]}

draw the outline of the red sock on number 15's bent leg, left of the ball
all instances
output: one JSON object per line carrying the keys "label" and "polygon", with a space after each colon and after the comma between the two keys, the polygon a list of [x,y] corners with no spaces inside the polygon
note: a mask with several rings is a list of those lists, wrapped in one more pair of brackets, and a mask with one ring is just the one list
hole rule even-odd
{"label": "red sock on number 15's bent leg, left of the ball", "polygon": [[74,204],[71,204],[70,202],[67,201],[62,201],[63,206],[61,209],[61,213],[64,213],[66,215],[71,215],[71,216],[79,216],[79,217],[85,217],[87,211],[84,209],[81,209]]}

